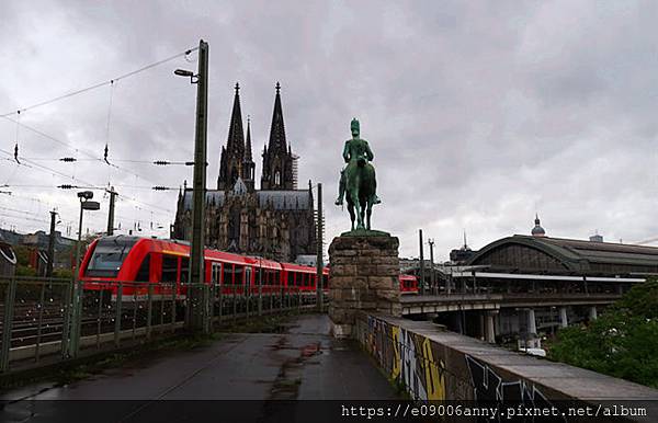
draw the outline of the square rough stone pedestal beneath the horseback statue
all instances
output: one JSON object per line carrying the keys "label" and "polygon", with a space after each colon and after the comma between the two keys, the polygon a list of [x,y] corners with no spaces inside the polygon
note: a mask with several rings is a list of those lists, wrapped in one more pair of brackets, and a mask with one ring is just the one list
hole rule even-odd
{"label": "square rough stone pedestal beneath the horseback statue", "polygon": [[349,338],[359,311],[401,316],[399,241],[343,233],[329,247],[329,317],[336,338]]}

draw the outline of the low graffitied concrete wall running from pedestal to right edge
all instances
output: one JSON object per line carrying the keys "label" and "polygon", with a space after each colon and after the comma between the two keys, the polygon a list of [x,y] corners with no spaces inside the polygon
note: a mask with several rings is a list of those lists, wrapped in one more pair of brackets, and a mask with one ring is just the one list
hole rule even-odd
{"label": "low graffitied concrete wall running from pedestal to right edge", "polygon": [[658,400],[658,390],[440,331],[424,321],[361,313],[354,338],[417,400]]}

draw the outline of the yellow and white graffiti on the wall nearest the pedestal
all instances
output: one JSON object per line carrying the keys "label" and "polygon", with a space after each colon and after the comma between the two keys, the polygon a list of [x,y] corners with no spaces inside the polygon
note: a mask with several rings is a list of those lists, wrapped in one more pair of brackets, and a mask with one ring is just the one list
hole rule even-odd
{"label": "yellow and white graffiti on the wall nearest the pedestal", "polygon": [[445,365],[426,336],[368,317],[365,345],[392,379],[417,400],[445,399]]}

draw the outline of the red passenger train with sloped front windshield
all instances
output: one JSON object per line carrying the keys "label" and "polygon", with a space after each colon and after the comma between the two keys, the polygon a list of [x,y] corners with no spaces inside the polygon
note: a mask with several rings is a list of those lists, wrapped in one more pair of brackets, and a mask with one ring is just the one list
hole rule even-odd
{"label": "red passenger train with sloped front windshield", "polygon": [[[232,254],[205,249],[205,282],[220,286],[241,286],[243,289],[268,291],[285,287],[295,291],[315,291],[316,267],[292,263],[279,263],[266,259]],[[123,295],[147,293],[139,282],[160,283],[155,295],[184,295],[181,284],[188,282],[190,244],[186,241],[112,236],[99,238],[91,243],[80,265],[79,277],[86,289],[112,290],[116,295],[116,282],[126,283]],[[261,281],[262,279],[262,281]],[[103,284],[112,283],[112,284]],[[322,286],[329,287],[329,268],[322,272]],[[145,284],[146,285],[146,284]],[[417,293],[415,276],[400,275],[400,290]]]}

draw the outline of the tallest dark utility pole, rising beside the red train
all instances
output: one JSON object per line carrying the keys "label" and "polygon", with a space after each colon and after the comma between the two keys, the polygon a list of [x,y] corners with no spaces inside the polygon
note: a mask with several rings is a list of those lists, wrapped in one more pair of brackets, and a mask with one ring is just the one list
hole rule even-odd
{"label": "tallest dark utility pole, rising beside the red train", "polygon": [[192,251],[190,260],[190,283],[196,286],[189,289],[190,329],[207,328],[204,321],[203,288],[203,250],[205,236],[205,195],[206,195],[206,136],[208,128],[208,44],[198,42],[198,70],[196,73],[196,130],[194,135],[194,182],[192,191]]}

